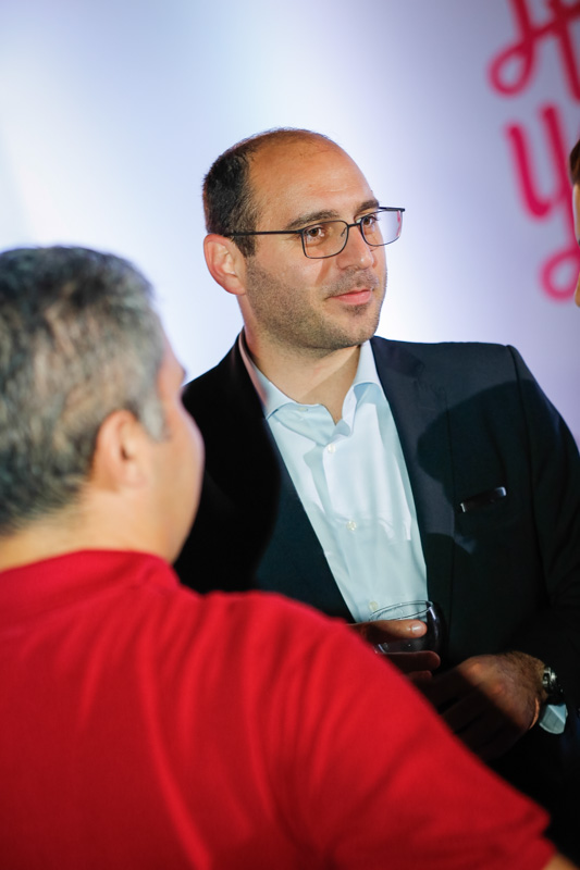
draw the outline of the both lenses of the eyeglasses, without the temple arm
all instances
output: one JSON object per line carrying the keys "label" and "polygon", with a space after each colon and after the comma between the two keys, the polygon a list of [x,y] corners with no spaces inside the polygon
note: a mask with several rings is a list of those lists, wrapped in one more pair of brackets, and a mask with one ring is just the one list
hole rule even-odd
{"label": "both lenses of the eyeglasses, without the temple arm", "polygon": [[[390,245],[400,236],[403,212],[377,211],[366,214],[357,222],[365,241],[371,246]],[[354,232],[356,227],[351,227]],[[307,257],[319,259],[333,257],[346,246],[348,225],[345,221],[322,221],[303,231],[304,250]]]}

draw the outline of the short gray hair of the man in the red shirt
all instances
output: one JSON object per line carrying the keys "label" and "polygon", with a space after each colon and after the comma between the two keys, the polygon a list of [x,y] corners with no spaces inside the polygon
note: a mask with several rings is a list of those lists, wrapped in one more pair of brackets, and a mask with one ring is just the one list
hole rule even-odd
{"label": "short gray hair of the man in the red shirt", "polygon": [[163,437],[151,300],[147,279],[113,254],[0,254],[0,535],[78,499],[113,411]]}

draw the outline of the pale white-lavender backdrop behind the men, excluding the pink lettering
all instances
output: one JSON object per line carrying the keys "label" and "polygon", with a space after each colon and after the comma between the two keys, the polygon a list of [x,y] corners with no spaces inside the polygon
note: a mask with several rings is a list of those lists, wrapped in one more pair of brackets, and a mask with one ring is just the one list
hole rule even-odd
{"label": "pale white-lavender backdrop behind the men, excluding the pink lettering", "polygon": [[[545,34],[505,66],[516,80],[532,59],[502,96],[489,69],[520,39],[518,9]],[[546,107],[567,152],[580,136],[578,0],[0,0],[0,248],[128,257],[194,376],[240,324],[203,263],[205,172],[251,133],[319,129],[382,202],[407,209],[380,334],[516,345],[580,438],[580,311],[540,277],[571,244]],[[514,124],[542,219],[521,196]],[[570,253],[562,287],[575,266]]]}

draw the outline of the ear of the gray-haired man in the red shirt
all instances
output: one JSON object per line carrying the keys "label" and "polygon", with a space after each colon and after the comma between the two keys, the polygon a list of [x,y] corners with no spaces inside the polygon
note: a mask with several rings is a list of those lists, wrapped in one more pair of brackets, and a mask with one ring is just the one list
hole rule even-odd
{"label": "ear of the gray-haired man in the red shirt", "polygon": [[148,478],[148,436],[131,411],[113,411],[101,423],[91,478],[106,489],[140,488]]}

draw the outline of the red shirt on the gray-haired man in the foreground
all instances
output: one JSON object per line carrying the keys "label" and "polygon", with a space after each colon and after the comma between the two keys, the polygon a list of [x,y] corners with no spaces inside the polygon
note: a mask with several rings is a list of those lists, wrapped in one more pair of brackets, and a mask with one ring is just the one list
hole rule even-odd
{"label": "red shirt on the gray-haired man in the foreground", "polygon": [[340,621],[160,559],[0,574],[0,865],[535,870],[546,818]]}

